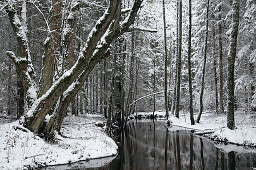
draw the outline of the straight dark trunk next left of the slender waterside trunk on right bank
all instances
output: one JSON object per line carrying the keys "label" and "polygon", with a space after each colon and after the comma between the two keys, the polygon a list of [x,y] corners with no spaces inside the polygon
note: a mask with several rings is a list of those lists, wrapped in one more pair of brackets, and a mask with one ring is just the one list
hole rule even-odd
{"label": "straight dark trunk next left of the slender waterside trunk on right bank", "polygon": [[179,56],[178,56],[178,72],[177,72],[177,89],[176,89],[176,111],[175,116],[179,118],[180,111],[180,84],[181,84],[181,40],[182,40],[182,1],[180,0],[180,24],[179,24]]}

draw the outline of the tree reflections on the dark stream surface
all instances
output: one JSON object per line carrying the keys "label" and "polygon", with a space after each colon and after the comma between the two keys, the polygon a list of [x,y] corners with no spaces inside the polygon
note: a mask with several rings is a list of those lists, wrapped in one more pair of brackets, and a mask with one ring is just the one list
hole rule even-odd
{"label": "tree reflections on the dark stream surface", "polygon": [[[159,122],[154,125],[133,121],[126,130],[126,145],[122,144],[126,147],[125,169],[231,169],[233,162],[236,168],[247,168],[246,163],[253,161],[252,154],[243,160],[238,160],[235,154],[232,161],[230,154],[217,149],[209,140],[185,131],[168,132]],[[253,162],[249,164],[252,167]]]}

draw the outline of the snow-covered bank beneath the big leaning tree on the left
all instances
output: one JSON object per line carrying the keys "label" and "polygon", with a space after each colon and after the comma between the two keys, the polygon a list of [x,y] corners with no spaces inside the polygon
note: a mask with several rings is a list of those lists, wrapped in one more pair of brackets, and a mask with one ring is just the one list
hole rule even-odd
{"label": "snow-covered bank beneath the big leaning tree on the left", "polygon": [[[56,142],[49,143],[32,132],[23,132],[18,122],[0,125],[0,169],[53,166],[113,156],[118,146],[96,122],[99,115],[67,116]],[[22,127],[21,127],[22,128]],[[26,129],[25,129],[26,130]]]}

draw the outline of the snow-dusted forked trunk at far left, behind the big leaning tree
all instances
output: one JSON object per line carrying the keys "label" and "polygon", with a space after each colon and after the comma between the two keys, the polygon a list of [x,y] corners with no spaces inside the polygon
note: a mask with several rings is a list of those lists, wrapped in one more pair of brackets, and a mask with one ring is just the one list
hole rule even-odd
{"label": "snow-dusted forked trunk at far left, behind the big leaning tree", "polygon": [[5,3],[6,13],[8,13],[9,21],[18,42],[18,56],[11,51],[6,52],[6,54],[15,64],[16,73],[21,81],[21,94],[24,94],[21,98],[25,99],[25,110],[28,110],[36,99],[36,84],[27,38],[26,3],[25,1],[22,2],[21,17],[18,16],[13,2],[6,1]]}

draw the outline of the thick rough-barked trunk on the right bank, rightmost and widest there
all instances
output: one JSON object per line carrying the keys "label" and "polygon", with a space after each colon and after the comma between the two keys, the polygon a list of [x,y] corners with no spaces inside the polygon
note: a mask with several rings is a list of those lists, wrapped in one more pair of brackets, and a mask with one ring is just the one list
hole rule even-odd
{"label": "thick rough-barked trunk on the right bank, rightmost and widest there", "polygon": [[228,55],[228,114],[227,114],[227,127],[231,130],[235,129],[235,59],[236,59],[236,43],[239,26],[239,0],[233,2],[233,26],[231,31],[231,42]]}

